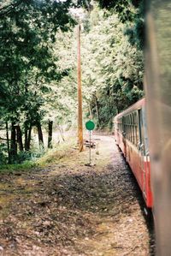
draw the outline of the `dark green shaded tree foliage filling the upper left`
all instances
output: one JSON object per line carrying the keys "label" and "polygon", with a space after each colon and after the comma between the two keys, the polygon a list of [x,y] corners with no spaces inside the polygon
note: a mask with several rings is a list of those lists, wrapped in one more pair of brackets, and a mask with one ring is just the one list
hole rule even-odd
{"label": "dark green shaded tree foliage filling the upper left", "polygon": [[[48,113],[44,106],[53,93],[48,85],[67,75],[67,70],[56,66],[53,45],[56,33],[69,31],[75,24],[69,13],[71,5],[70,0],[2,2],[0,114],[11,128],[12,123],[20,125],[21,133],[43,122]],[[20,154],[11,156],[11,160],[21,162],[26,156]]]}

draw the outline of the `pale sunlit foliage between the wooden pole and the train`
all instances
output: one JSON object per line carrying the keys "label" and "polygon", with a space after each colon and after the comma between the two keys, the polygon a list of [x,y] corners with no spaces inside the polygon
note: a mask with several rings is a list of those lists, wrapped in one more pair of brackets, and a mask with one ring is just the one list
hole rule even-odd
{"label": "pale sunlit foliage between the wooden pole and the train", "polygon": [[83,95],[97,127],[111,127],[116,113],[144,95],[143,52],[130,44],[127,25],[115,14],[94,9],[89,27],[82,42]]}

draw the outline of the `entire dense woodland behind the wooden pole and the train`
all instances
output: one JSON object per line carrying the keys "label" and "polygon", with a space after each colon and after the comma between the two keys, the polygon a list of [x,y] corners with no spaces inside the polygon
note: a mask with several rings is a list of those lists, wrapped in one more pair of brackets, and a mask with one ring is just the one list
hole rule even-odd
{"label": "entire dense woodland behind the wooden pole and the train", "polygon": [[143,0],[3,0],[0,164],[36,158],[52,147],[53,130],[64,140],[63,128],[76,126],[79,22],[84,120],[111,129],[143,97]]}

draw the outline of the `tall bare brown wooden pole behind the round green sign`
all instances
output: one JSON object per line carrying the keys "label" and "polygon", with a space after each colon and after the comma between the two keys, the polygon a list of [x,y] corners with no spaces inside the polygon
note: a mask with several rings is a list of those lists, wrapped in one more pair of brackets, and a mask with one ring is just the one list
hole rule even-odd
{"label": "tall bare brown wooden pole behind the round green sign", "polygon": [[78,139],[79,151],[83,151],[83,121],[82,121],[82,90],[81,90],[81,64],[80,64],[80,25],[78,26]]}

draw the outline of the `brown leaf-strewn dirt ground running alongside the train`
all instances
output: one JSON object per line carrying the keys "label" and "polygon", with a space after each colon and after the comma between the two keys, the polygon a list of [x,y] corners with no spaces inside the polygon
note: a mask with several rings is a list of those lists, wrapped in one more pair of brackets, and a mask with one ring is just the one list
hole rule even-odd
{"label": "brown leaf-strewn dirt ground running alongside the train", "polygon": [[150,255],[133,176],[112,137],[95,139],[93,167],[73,149],[44,170],[0,175],[0,255]]}

